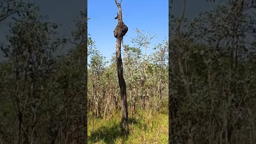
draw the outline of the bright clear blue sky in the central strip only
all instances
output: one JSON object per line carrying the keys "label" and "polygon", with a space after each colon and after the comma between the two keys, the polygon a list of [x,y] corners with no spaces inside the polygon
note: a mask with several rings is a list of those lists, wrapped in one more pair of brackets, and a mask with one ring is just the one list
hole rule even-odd
{"label": "bright clear blue sky in the central strip only", "polygon": [[[148,31],[149,35],[157,35],[157,38],[151,41],[151,46],[161,43],[165,37],[168,39],[169,2],[167,0],[123,0],[121,6],[123,21],[129,28],[124,37],[124,44],[133,46],[130,40],[137,36],[135,28]],[[88,21],[88,33],[107,60],[115,52],[116,38],[113,31],[117,24],[117,20],[114,19],[117,12],[114,0],[88,0],[88,17],[91,18]],[[147,50],[148,52],[152,50]]]}

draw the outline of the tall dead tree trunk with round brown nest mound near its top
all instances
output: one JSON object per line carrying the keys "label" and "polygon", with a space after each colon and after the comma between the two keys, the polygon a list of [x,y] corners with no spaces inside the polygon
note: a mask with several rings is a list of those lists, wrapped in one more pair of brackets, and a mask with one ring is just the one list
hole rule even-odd
{"label": "tall dead tree trunk with round brown nest mound near its top", "polygon": [[128,132],[128,107],[127,107],[127,96],[126,96],[126,85],[123,76],[123,62],[121,57],[121,44],[123,36],[127,33],[128,27],[124,24],[122,19],[122,9],[121,3],[115,0],[118,7],[119,14],[115,19],[118,19],[117,26],[114,30],[114,36],[116,38],[116,66],[117,66],[117,76],[118,83],[121,91],[121,107],[122,107],[122,120],[121,120],[121,129],[123,132]]}

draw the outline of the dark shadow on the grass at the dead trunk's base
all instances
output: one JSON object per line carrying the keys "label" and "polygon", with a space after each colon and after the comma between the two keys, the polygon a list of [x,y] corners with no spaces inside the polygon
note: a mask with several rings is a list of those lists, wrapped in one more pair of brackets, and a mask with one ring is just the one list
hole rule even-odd
{"label": "dark shadow on the grass at the dead trunk's base", "polygon": [[[129,124],[140,124],[137,119],[129,118]],[[89,143],[95,142],[105,142],[107,144],[115,143],[116,139],[121,138],[122,143],[128,138],[129,134],[122,133],[119,123],[115,123],[112,126],[101,126],[97,130],[91,133],[91,136],[88,138]]]}

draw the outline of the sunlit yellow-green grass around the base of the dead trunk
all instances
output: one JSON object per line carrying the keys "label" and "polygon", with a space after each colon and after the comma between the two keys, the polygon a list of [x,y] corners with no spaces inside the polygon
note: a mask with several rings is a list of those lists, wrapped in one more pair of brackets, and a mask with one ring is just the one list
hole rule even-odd
{"label": "sunlit yellow-green grass around the base of the dead trunk", "polygon": [[121,112],[105,118],[88,115],[88,143],[167,143],[168,110],[138,110],[134,118],[129,113],[129,135],[122,135]]}

